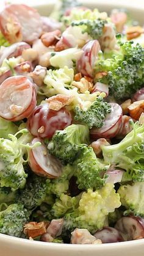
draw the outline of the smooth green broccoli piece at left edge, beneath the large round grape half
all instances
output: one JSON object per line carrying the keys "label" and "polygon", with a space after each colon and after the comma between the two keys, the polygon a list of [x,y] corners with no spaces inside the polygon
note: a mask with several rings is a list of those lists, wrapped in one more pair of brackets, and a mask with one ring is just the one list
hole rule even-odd
{"label": "smooth green broccoli piece at left edge, beneath the large round grape half", "polygon": [[9,134],[15,134],[17,131],[18,126],[16,126],[15,123],[0,117],[0,138],[8,139]]}

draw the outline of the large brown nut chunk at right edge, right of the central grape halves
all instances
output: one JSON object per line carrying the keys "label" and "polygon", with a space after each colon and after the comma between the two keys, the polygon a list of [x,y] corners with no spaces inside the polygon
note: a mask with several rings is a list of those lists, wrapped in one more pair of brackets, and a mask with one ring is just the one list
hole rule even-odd
{"label": "large brown nut chunk at right edge, right of the central grape halves", "polygon": [[144,112],[144,99],[132,103],[128,107],[128,110],[132,118],[134,118],[135,120],[139,120],[140,115],[142,114],[142,112]]}

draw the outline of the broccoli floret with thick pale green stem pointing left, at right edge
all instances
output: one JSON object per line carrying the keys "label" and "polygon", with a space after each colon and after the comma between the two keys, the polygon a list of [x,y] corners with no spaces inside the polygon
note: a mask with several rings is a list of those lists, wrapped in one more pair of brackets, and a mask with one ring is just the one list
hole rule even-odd
{"label": "broccoli floret with thick pale green stem pointing left, at right edge", "polygon": [[115,145],[103,146],[105,163],[124,169],[122,182],[144,181],[144,124],[133,124],[134,130]]}

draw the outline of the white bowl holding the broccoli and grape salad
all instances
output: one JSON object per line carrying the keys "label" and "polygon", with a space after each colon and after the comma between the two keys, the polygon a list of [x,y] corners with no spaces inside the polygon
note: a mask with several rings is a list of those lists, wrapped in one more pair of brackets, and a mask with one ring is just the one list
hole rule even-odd
{"label": "white bowl holding the broccoli and grape salad", "polygon": [[[0,0],[1,1],[1,0]],[[12,1],[11,1],[12,2]],[[24,2],[13,0],[13,2]],[[31,1],[30,1],[31,2]],[[109,12],[115,7],[127,8],[135,20],[144,23],[143,0],[81,0],[87,7],[96,7],[99,10]],[[30,3],[31,6],[34,3]],[[56,0],[36,0],[40,14],[51,12]],[[27,4],[27,2],[26,2]],[[77,244],[52,244],[46,242],[30,241],[21,238],[0,234],[0,256],[143,256],[144,239],[118,242],[113,244],[77,245]]]}

